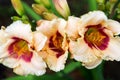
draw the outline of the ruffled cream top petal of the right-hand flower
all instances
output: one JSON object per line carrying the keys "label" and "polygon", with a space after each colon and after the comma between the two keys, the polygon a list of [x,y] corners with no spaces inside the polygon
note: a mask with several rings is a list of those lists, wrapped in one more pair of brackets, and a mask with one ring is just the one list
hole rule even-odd
{"label": "ruffled cream top petal of the right-hand flower", "polygon": [[93,11],[81,16],[81,27],[88,25],[97,25],[107,20],[106,15],[102,11]]}

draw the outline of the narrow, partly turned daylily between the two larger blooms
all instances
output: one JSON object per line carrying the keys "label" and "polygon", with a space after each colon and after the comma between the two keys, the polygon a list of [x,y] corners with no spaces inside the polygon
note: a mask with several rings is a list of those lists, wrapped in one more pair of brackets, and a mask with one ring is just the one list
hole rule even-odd
{"label": "narrow, partly turned daylily between the two larger blooms", "polygon": [[46,46],[40,51],[48,67],[53,71],[64,69],[68,56],[68,43],[65,35],[66,21],[54,19],[52,21],[38,21],[37,31],[42,32],[48,37]]}

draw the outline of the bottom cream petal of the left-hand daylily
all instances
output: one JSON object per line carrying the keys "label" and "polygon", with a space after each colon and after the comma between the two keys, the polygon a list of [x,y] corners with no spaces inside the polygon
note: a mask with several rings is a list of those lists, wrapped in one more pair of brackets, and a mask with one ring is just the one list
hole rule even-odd
{"label": "bottom cream petal of the left-hand daylily", "polygon": [[40,76],[46,72],[46,64],[40,56],[34,53],[30,63],[21,60],[19,66],[14,68],[14,72],[19,75],[32,74]]}

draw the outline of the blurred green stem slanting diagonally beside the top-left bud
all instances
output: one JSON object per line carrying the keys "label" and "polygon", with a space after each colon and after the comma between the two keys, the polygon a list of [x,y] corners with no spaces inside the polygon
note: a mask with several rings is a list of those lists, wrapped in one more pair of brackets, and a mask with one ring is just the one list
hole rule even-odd
{"label": "blurred green stem slanting diagonally beside the top-left bud", "polygon": [[36,20],[36,21],[42,19],[41,16],[39,16],[37,13],[35,13],[35,12],[33,11],[33,9],[32,9],[28,4],[26,4],[25,2],[22,2],[22,4],[23,4],[23,7],[24,7],[26,13],[27,13],[30,17],[32,17],[32,18],[33,18],[34,20]]}

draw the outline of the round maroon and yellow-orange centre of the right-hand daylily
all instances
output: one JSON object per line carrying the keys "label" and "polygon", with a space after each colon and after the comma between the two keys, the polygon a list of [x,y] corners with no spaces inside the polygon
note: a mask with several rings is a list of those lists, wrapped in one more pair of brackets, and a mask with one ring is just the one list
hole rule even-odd
{"label": "round maroon and yellow-orange centre of the right-hand daylily", "polygon": [[87,26],[87,31],[84,35],[84,40],[88,44],[89,47],[99,48],[100,50],[104,50],[107,48],[109,37],[103,31],[104,27],[99,25]]}

